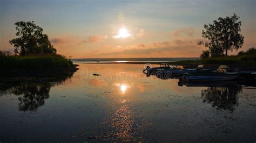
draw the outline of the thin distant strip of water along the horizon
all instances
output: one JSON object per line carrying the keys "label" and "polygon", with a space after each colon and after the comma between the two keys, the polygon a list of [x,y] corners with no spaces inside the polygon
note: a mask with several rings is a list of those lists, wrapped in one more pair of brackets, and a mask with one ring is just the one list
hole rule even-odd
{"label": "thin distant strip of water along the horizon", "polygon": [[120,62],[168,62],[168,61],[180,61],[180,60],[197,60],[199,58],[98,58],[98,59],[72,59],[77,63],[120,63]]}

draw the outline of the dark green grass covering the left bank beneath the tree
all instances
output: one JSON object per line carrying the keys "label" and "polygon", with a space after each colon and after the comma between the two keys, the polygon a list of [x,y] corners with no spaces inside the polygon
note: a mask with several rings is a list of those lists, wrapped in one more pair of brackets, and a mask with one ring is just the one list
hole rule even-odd
{"label": "dark green grass covering the left bank beneath the tree", "polygon": [[0,54],[0,69],[72,69],[72,61],[58,54],[16,56]]}

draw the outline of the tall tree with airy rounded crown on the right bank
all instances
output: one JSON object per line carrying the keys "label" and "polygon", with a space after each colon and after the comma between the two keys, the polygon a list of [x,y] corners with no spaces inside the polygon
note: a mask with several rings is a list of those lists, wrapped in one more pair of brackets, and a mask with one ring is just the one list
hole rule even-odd
{"label": "tall tree with airy rounded crown on the right bank", "polygon": [[[198,45],[204,45],[209,48],[209,51],[227,52],[237,50],[244,44],[244,37],[239,33],[241,31],[241,22],[237,22],[239,17],[233,15],[232,17],[218,18],[214,20],[213,24],[204,25],[205,30],[202,31],[202,37],[206,41],[199,41]],[[216,49],[218,48],[218,50]],[[216,55],[216,54],[215,54]]]}

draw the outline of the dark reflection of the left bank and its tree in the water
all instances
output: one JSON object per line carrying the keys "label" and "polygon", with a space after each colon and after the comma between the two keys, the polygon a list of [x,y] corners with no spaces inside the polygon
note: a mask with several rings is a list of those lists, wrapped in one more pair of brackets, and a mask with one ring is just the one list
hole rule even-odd
{"label": "dark reflection of the left bank and its tree in the water", "polygon": [[44,100],[50,97],[49,92],[51,87],[62,84],[71,76],[72,74],[58,78],[42,78],[41,80],[44,80],[43,82],[37,78],[37,81],[6,85],[2,87],[0,95],[14,94],[20,96],[18,97],[19,110],[33,111],[44,105]]}

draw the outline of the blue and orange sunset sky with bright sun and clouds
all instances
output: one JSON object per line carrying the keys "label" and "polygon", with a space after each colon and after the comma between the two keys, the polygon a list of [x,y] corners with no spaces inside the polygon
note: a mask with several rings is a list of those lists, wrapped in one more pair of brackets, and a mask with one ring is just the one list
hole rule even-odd
{"label": "blue and orange sunset sky with bright sun and clouds", "polygon": [[235,13],[245,51],[256,47],[255,9],[255,0],[0,0],[0,49],[14,50],[14,23],[35,21],[72,58],[199,57],[204,24]]}

